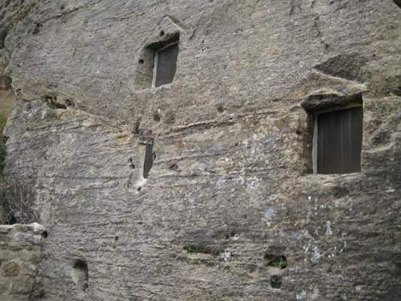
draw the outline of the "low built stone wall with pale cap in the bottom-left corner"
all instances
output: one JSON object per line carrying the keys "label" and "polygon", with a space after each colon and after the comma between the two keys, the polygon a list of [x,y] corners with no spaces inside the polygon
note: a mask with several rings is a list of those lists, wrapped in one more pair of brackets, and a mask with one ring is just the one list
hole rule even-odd
{"label": "low built stone wall with pale cap in the bottom-left corner", "polygon": [[42,259],[43,226],[0,226],[0,300],[36,300],[43,296],[38,271]]}

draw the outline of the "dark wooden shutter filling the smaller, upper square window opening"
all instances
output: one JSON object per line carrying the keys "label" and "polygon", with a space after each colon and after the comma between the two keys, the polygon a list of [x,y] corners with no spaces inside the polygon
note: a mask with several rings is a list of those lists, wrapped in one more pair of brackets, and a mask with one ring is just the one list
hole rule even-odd
{"label": "dark wooden shutter filling the smaller, upper square window opening", "polygon": [[174,78],[178,57],[178,45],[173,44],[159,50],[156,56],[156,78],[154,86],[158,87],[172,82]]}

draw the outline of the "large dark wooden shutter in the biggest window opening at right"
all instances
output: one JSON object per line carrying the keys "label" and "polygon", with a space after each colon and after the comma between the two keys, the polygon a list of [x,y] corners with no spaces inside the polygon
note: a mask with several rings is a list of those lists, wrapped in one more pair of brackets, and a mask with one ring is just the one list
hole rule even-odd
{"label": "large dark wooden shutter in the biggest window opening at right", "polygon": [[360,171],[362,107],[317,115],[317,173]]}

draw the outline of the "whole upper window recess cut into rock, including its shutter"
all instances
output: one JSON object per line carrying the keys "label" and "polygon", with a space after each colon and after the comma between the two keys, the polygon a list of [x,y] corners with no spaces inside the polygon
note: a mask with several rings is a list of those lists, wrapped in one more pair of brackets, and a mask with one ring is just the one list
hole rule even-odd
{"label": "whole upper window recess cut into rock, including its shutter", "polygon": [[178,58],[179,32],[159,33],[156,42],[146,45],[139,57],[135,84],[137,89],[147,89],[173,81]]}

